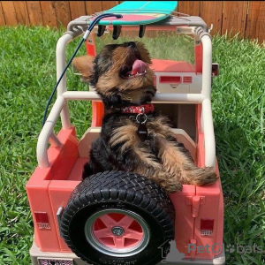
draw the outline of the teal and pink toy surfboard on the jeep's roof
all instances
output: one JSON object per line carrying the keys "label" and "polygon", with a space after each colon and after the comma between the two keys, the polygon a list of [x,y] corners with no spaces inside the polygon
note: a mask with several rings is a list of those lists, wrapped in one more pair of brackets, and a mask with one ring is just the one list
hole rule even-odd
{"label": "teal and pink toy surfboard on the jeep's roof", "polygon": [[[125,1],[103,13],[122,14],[122,19],[106,18],[99,25],[147,25],[166,19],[176,10],[178,1]],[[93,20],[93,18],[92,18]]]}

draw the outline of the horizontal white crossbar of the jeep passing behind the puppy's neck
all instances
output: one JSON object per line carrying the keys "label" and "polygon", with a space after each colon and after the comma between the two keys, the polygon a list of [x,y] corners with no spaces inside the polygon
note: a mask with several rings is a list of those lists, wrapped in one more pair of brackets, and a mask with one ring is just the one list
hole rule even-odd
{"label": "horizontal white crossbar of the jeep passing behind the puppy's neck", "polygon": [[[66,100],[90,100],[100,102],[101,97],[95,92],[88,91],[66,91],[63,94]],[[154,103],[201,103],[204,97],[201,94],[156,94],[152,102]]]}

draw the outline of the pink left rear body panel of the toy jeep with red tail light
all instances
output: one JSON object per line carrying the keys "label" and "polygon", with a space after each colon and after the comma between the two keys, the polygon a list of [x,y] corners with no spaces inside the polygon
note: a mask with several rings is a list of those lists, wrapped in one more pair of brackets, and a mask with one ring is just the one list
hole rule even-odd
{"label": "pink left rear body panel of the toy jeep with red tail light", "polygon": [[[49,168],[39,166],[27,182],[27,197],[34,219],[34,242],[42,251],[62,251],[57,231],[57,216],[54,205],[54,181],[59,181],[59,203],[65,205],[75,186],[80,181],[67,181],[79,156],[75,128],[58,133],[61,147],[49,147]],[[59,243],[60,242],[60,243]],[[63,244],[64,245],[64,244]],[[67,248],[67,251],[69,249]]]}

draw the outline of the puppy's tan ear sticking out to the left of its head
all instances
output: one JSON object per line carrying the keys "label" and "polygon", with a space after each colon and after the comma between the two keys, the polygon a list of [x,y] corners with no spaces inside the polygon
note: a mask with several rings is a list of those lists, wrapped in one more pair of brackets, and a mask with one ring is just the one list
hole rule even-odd
{"label": "puppy's tan ear sticking out to the left of its head", "polygon": [[76,68],[77,71],[81,74],[81,79],[84,82],[89,81],[89,77],[91,75],[91,72],[93,71],[94,59],[95,57],[87,55],[82,57],[75,57],[72,60],[73,67]]}

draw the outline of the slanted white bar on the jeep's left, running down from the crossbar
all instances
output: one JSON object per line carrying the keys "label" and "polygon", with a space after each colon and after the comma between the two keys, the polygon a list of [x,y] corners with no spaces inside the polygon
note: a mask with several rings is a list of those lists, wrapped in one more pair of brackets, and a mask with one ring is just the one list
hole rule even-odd
{"label": "slanted white bar on the jeep's left, running down from the crossbar", "polygon": [[53,133],[53,128],[57,122],[61,110],[64,108],[64,97],[57,96],[57,100],[54,103],[52,109],[50,110],[49,117],[47,118],[45,124],[42,127],[42,132],[39,135],[37,143],[37,160],[40,168],[48,168],[48,140]]}

